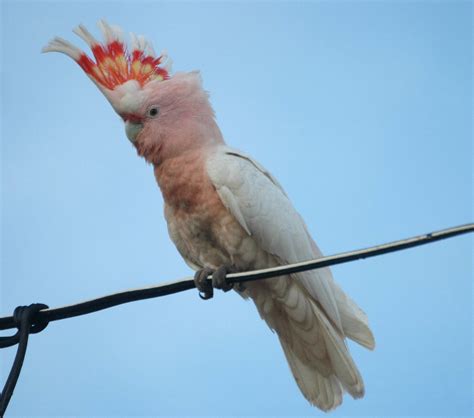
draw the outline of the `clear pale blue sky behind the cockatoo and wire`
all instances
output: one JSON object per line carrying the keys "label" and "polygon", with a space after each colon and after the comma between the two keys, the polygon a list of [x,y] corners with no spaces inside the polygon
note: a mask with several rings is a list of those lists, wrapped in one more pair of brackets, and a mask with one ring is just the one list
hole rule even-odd
{"label": "clear pale blue sky behind the cockatoo and wire", "polygon": [[[73,61],[40,54],[100,18],[202,71],[227,142],[324,253],[473,220],[471,2],[1,5],[0,315],[191,274],[121,120]],[[464,236],[333,269],[377,347],[350,343],[366,396],[331,416],[472,414],[472,257]],[[33,335],[9,415],[323,413],[251,302],[188,291]]]}

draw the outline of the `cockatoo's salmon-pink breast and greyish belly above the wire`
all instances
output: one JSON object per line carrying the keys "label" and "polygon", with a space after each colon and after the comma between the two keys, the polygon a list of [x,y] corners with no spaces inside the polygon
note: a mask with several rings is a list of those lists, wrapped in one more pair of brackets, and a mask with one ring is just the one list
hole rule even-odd
{"label": "cockatoo's salmon-pink breast and greyish belly above the wire", "polygon": [[165,201],[170,237],[197,267],[233,263],[248,237],[222,204],[205,167],[202,151],[188,152],[155,168]]}

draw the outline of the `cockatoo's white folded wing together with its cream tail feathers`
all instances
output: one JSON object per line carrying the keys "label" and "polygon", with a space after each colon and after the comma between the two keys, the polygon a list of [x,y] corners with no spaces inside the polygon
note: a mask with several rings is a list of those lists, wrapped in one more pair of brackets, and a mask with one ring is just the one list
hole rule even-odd
{"label": "cockatoo's white folded wing together with its cream tail feathers", "polygon": [[[274,264],[322,256],[281,186],[257,162],[221,146],[206,167],[224,206]],[[239,254],[233,257],[239,264]],[[263,258],[245,267],[268,267],[269,257]],[[374,338],[366,315],[334,282],[328,268],[254,282],[243,296],[252,297],[278,334],[296,382],[311,403],[330,410],[341,403],[342,388],[354,398],[363,396],[362,377],[345,337],[369,349],[374,348]]]}

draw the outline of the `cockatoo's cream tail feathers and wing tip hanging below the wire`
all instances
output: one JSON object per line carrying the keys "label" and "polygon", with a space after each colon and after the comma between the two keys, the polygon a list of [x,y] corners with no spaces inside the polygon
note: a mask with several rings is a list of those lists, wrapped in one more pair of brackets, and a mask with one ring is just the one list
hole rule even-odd
{"label": "cockatoo's cream tail feathers and wing tip hanging below the wire", "polygon": [[[335,289],[343,325],[341,332],[319,304],[296,283],[289,286],[292,289],[285,292],[285,300],[274,299],[273,309],[261,309],[256,304],[262,318],[278,334],[303,395],[311,404],[324,411],[341,404],[344,390],[353,398],[364,396],[362,376],[348,351],[344,337],[347,335],[360,344],[373,348],[373,336],[365,314],[341,289]],[[292,293],[296,295],[288,297]],[[297,303],[292,303],[295,298]]]}

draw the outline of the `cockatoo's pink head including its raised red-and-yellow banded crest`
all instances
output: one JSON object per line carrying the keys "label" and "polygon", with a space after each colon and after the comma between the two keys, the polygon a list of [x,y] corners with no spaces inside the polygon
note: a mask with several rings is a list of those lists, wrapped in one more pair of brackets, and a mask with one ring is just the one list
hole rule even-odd
{"label": "cockatoo's pink head including its raised red-and-yellow banded crest", "polygon": [[122,31],[99,22],[101,43],[83,26],[74,29],[92,50],[94,59],[68,41],[56,37],[42,52],[61,52],[76,61],[125,123],[128,139],[153,164],[180,153],[220,143],[199,72],[171,76],[165,51],[156,57],[143,37],[130,34],[128,47]]}

